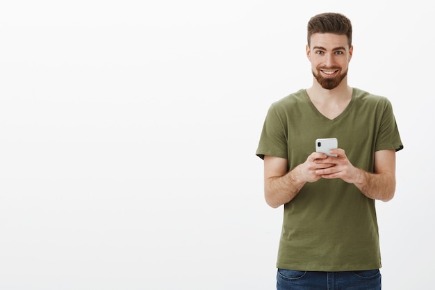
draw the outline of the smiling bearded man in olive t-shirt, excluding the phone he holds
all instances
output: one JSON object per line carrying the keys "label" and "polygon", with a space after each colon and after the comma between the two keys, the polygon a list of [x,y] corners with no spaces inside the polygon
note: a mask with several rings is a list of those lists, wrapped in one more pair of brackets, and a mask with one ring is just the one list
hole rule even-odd
{"label": "smiling bearded man in olive t-shirt, excluding the phone he holds", "polygon": [[[386,97],[352,88],[352,24],[322,13],[308,23],[313,85],[269,108],[257,156],[265,200],[284,204],[277,289],[381,289],[375,200],[395,193],[395,152],[403,148]],[[327,156],[317,138],[337,138]]]}

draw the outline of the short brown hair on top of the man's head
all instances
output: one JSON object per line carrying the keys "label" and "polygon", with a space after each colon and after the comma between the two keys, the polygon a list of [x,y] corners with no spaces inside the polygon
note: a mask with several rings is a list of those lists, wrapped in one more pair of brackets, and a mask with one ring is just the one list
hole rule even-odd
{"label": "short brown hair on top of the man's head", "polygon": [[311,17],[307,26],[307,40],[310,46],[311,35],[314,33],[334,33],[347,35],[347,44],[352,45],[352,23],[340,13],[322,13]]}

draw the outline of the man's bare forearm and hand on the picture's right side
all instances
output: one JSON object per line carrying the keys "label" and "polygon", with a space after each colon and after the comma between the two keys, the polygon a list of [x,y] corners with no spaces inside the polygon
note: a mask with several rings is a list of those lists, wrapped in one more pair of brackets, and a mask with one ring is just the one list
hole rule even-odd
{"label": "man's bare forearm and hand on the picture's right side", "polygon": [[352,166],[342,149],[331,150],[338,154],[335,159],[324,159],[316,162],[334,163],[335,166],[318,170],[323,178],[341,178],[354,184],[363,195],[374,200],[388,202],[395,193],[395,150],[379,150],[375,152],[375,172],[367,172]]}

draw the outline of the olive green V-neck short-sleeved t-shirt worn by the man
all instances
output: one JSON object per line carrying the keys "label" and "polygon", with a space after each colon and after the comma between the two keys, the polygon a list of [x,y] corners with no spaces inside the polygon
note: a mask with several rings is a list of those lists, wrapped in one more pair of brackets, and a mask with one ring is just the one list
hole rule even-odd
{"label": "olive green V-neck short-sleeved t-shirt worn by the man", "polygon": [[[403,147],[386,97],[353,88],[345,111],[329,120],[311,103],[306,90],[299,90],[270,106],[256,155],[286,158],[291,170],[315,151],[315,139],[332,137],[354,166],[368,172],[373,172],[375,151]],[[342,179],[306,183],[284,204],[277,267],[299,271],[380,268],[375,200]]]}

